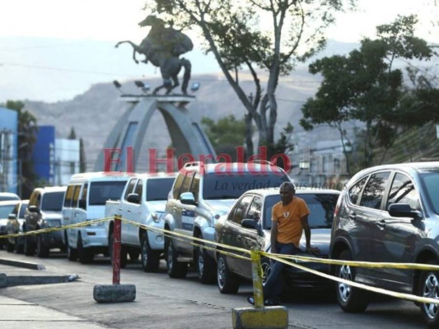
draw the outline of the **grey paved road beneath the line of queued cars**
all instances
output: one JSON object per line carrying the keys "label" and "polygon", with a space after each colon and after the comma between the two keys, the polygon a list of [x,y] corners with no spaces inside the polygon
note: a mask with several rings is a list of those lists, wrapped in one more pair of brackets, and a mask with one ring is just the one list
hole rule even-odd
{"label": "grey paved road beneath the line of queued cars", "polygon": [[[39,262],[47,272],[80,276],[78,282],[67,284],[6,288],[0,290],[0,295],[111,328],[230,328],[230,310],[247,307],[246,297],[251,294],[250,284],[243,285],[237,295],[223,295],[216,285],[198,283],[193,272],[186,279],[170,279],[163,261],[158,273],[144,273],[136,262],[121,271],[121,283],[136,285],[136,302],[97,304],[92,296],[93,286],[111,283],[108,258],[98,257],[94,264],[82,265],[61,254],[39,259],[0,251],[0,257]],[[426,328],[419,309],[405,301],[380,298],[362,314],[347,314],[330,293],[298,290],[289,296],[285,306],[291,328]]]}

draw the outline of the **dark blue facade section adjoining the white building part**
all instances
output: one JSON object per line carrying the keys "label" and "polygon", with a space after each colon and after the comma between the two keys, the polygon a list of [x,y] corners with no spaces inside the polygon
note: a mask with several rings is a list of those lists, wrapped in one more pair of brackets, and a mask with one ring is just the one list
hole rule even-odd
{"label": "dark blue facade section adjoining the white building part", "polygon": [[55,178],[55,127],[39,126],[32,153],[34,171],[40,178],[53,184]]}

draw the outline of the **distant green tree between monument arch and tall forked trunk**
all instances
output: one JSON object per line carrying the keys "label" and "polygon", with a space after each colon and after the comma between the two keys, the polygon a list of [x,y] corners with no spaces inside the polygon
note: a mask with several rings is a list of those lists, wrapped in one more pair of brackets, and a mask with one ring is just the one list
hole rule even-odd
{"label": "distant green tree between monument arch and tall forked trunk", "polygon": [[215,152],[228,154],[232,161],[236,161],[235,147],[242,146],[245,142],[245,119],[237,120],[235,116],[229,115],[215,122],[209,117],[203,117],[201,124]]}

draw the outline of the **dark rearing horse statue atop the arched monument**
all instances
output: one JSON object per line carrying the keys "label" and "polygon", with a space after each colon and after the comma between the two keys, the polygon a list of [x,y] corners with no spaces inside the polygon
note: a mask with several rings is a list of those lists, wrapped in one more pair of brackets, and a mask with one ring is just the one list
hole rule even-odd
{"label": "dark rearing horse statue atop the arched monument", "polygon": [[177,76],[181,68],[184,67],[182,93],[187,95],[191,64],[188,59],[179,57],[193,49],[192,41],[187,35],[172,27],[165,27],[165,22],[154,15],[149,15],[139,25],[142,27],[151,26],[148,35],[139,45],[125,40],[118,42],[115,47],[119,47],[124,42],[129,43],[133,47],[133,59],[137,64],[139,61],[136,58],[136,52],[145,55],[142,62],[150,61],[152,65],[160,67],[163,84],[154,89],[154,95],[162,88],[167,89],[166,95],[168,95],[172,89],[179,86]]}

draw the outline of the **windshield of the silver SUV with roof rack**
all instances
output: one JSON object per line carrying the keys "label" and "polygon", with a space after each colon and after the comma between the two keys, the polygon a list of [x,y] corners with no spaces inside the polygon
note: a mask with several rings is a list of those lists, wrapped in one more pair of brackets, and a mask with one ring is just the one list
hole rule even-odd
{"label": "windshield of the silver SUV with roof rack", "polygon": [[237,199],[244,192],[253,189],[267,189],[280,187],[283,182],[289,182],[286,174],[245,174],[233,173],[219,175],[216,173],[205,174],[203,182],[203,197],[209,199]]}

